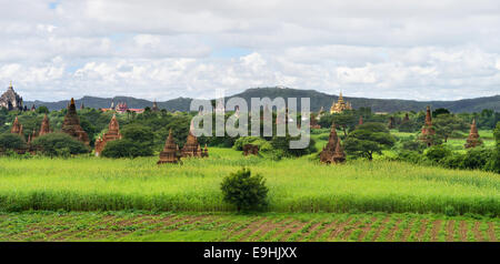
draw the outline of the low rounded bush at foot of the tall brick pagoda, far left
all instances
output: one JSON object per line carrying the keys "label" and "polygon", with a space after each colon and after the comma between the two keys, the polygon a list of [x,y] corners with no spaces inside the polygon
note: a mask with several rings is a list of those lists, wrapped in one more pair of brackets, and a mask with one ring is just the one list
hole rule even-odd
{"label": "low rounded bush at foot of the tall brick pagoda, far left", "polygon": [[68,156],[89,152],[89,148],[82,142],[64,133],[40,135],[31,142],[31,145],[49,156]]}

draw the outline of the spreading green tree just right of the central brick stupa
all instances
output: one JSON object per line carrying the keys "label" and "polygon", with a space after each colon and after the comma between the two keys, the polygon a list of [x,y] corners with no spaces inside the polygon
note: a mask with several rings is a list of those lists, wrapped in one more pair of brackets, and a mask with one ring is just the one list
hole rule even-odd
{"label": "spreading green tree just right of the central brick stupa", "polygon": [[394,145],[396,139],[382,123],[364,123],[349,133],[343,141],[346,152],[354,156],[373,160],[373,153]]}

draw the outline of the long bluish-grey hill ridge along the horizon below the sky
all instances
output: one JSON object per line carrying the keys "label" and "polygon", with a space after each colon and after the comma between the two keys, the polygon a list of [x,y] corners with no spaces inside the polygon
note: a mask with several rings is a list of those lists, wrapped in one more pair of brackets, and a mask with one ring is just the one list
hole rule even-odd
{"label": "long bluish-grey hill ridge along the horizon below the sky", "polygon": [[[300,98],[310,98],[311,111],[318,111],[321,106],[324,110],[329,110],[332,102],[338,100],[338,95],[331,95],[314,90],[299,90],[290,88],[252,88],[244,92],[233,94],[228,97],[240,97],[247,100],[250,105],[251,98],[270,98],[274,99],[277,97],[282,98],[297,98],[298,105],[300,108]],[[160,109],[167,109],[168,111],[188,111],[192,99],[189,98],[178,98],[164,102],[158,102]],[[351,98],[344,97],[344,100],[350,101],[354,109],[364,106],[371,108],[373,112],[397,112],[397,111],[421,111],[426,109],[427,105],[431,108],[446,108],[452,112],[480,112],[483,109],[492,109],[500,112],[500,95],[476,98],[476,99],[464,99],[458,101],[413,101],[413,100],[400,100],[400,99],[369,99],[369,98]],[[83,103],[89,108],[109,108],[111,101],[114,104],[118,102],[127,102],[129,108],[146,108],[152,106],[152,102],[143,99],[136,99],[131,97],[114,97],[114,98],[96,98],[96,97],[83,97],[76,100],[77,108]],[[60,110],[66,108],[69,100],[59,102],[24,102],[28,108],[34,103],[34,105],[46,105],[50,110]]]}

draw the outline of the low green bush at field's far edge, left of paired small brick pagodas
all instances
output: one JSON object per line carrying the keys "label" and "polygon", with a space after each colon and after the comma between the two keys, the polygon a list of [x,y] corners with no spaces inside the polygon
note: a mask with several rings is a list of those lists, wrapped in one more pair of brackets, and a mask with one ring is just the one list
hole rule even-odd
{"label": "low green bush at field's far edge, left of paired small brick pagodas", "polygon": [[108,142],[102,150],[102,156],[107,158],[136,158],[153,154],[151,148],[143,148],[141,143],[123,139]]}

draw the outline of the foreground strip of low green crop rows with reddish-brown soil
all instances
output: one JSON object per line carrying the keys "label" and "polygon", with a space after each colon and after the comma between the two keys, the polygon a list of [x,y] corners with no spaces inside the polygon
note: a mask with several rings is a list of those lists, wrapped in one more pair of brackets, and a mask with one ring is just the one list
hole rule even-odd
{"label": "foreground strip of low green crop rows with reddish-brown soil", "polygon": [[492,241],[499,219],[429,214],[24,212],[0,214],[0,241]]}

